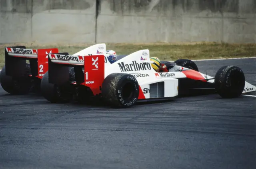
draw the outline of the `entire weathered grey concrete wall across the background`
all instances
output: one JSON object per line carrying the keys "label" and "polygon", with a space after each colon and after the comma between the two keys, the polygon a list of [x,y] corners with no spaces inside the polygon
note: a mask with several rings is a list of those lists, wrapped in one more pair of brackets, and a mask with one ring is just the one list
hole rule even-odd
{"label": "entire weathered grey concrete wall across the background", "polygon": [[0,0],[0,43],[256,42],[256,0]]}

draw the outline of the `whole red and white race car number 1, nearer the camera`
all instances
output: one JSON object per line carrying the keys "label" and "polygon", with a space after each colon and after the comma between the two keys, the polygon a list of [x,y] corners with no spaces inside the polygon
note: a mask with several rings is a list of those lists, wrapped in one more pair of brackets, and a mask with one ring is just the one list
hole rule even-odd
{"label": "whole red and white race car number 1, nearer the camera", "polygon": [[[149,50],[134,52],[113,64],[104,55],[83,56],[82,52],[77,56],[48,56],[49,70],[42,78],[41,90],[52,103],[68,102],[73,96],[77,101],[96,97],[114,107],[131,107],[139,100],[173,98],[198,89],[214,89],[224,98],[256,91],[236,66],[220,68],[215,78],[198,72],[190,60],[178,60],[168,66],[167,72],[155,72]],[[168,65],[166,61],[162,63]],[[74,67],[73,81],[68,67]]]}

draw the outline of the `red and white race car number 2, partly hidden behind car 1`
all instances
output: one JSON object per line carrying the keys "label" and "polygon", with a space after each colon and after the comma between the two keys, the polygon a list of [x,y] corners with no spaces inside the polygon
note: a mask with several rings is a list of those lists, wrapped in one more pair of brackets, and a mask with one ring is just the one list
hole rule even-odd
{"label": "red and white race car number 2, partly hidden behind car 1", "polygon": [[[90,46],[80,52],[84,55],[102,54],[106,52],[102,44]],[[11,94],[26,94],[29,91],[40,91],[40,84],[44,74],[48,71],[48,54],[58,53],[58,48],[26,49],[25,46],[5,48],[5,66],[0,73],[2,88]],[[77,52],[74,55],[80,55]],[[29,61],[29,64],[26,63]],[[70,77],[74,71],[70,68]]]}

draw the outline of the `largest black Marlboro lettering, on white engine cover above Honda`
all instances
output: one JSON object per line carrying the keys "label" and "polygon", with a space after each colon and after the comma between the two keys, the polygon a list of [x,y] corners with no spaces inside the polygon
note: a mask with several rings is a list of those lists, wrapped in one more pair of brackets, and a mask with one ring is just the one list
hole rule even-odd
{"label": "largest black Marlboro lettering, on white engine cover above Honda", "polygon": [[142,70],[151,70],[150,63],[137,63],[132,61],[130,64],[124,64],[124,62],[118,63],[118,66],[121,72],[130,72],[130,71],[142,71]]}

